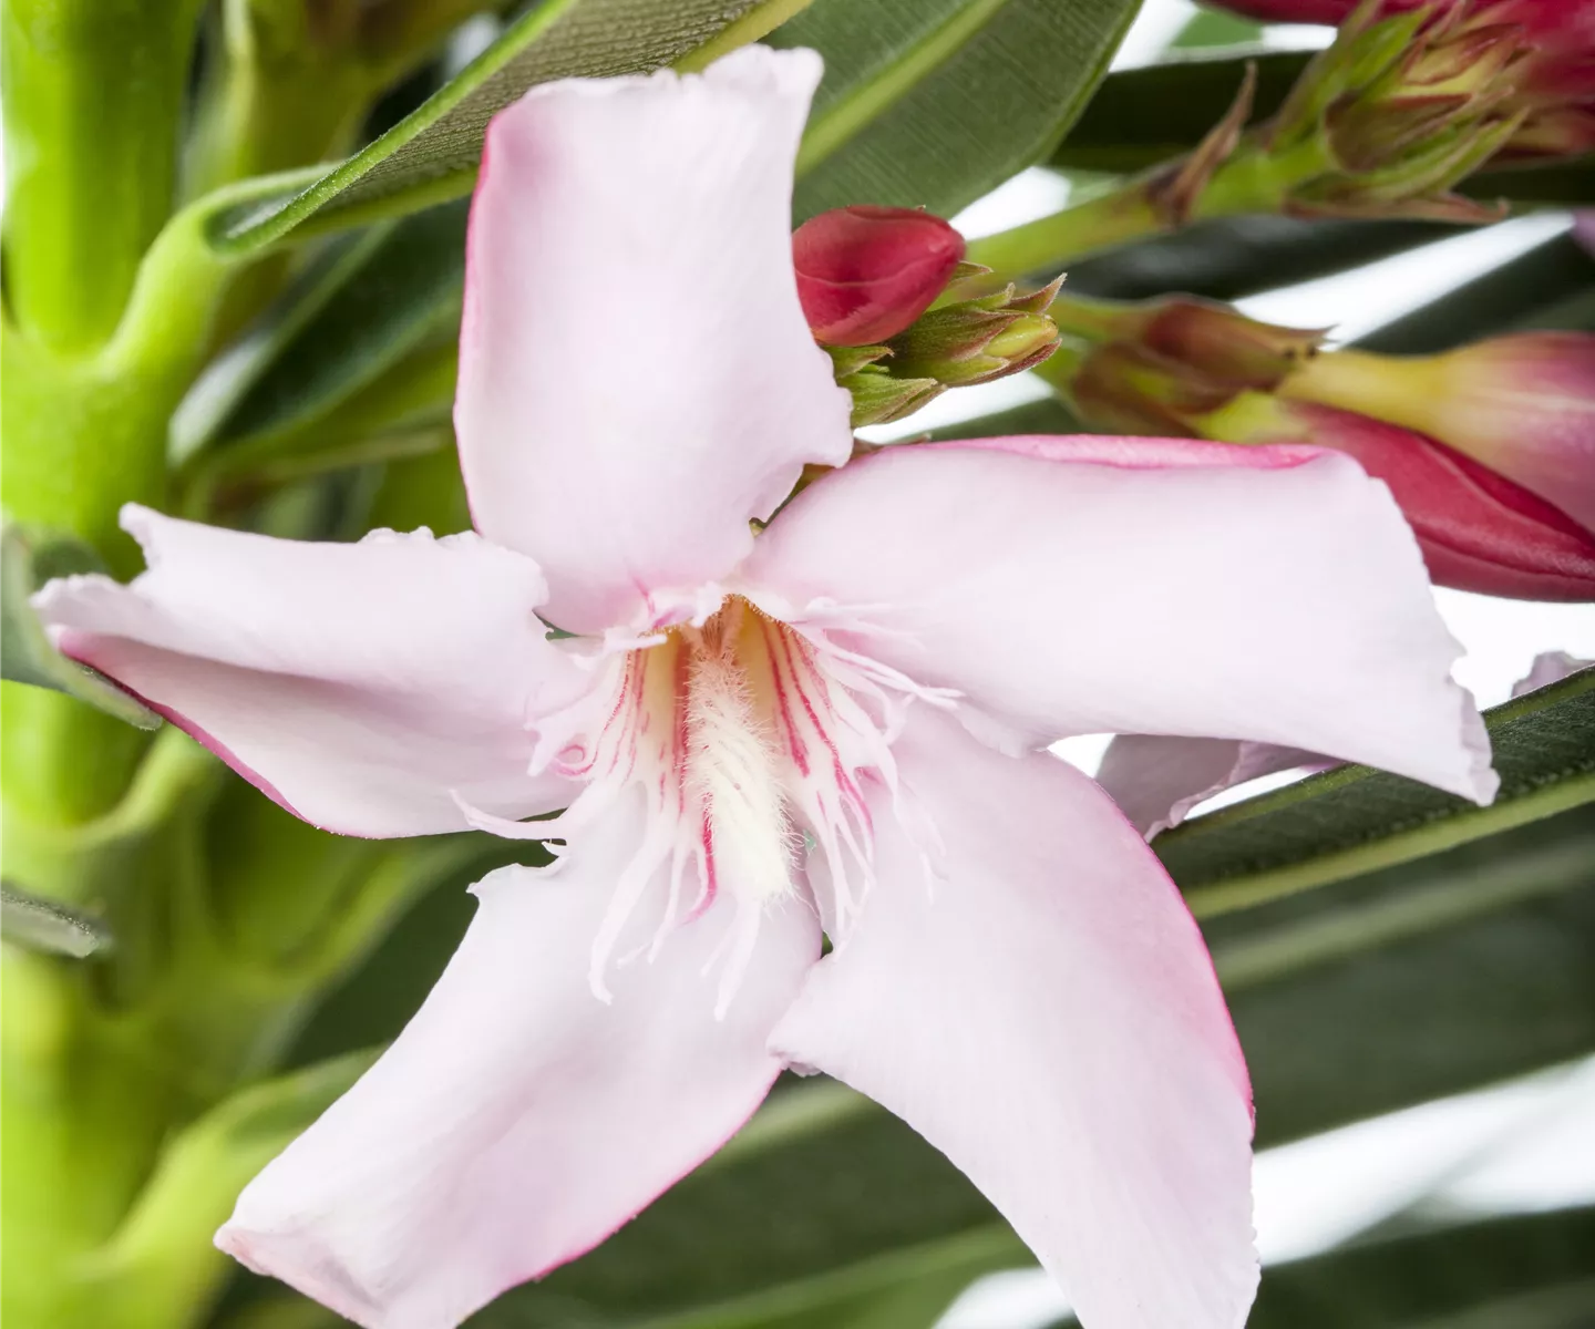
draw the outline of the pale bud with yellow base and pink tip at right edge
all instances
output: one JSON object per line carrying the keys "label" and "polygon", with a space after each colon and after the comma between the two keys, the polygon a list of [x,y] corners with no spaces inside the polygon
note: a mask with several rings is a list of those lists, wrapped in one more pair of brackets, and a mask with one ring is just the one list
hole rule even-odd
{"label": "pale bud with yellow base and pink tip at right edge", "polygon": [[1437,356],[1335,351],[1279,392],[1428,434],[1595,531],[1595,335],[1518,332]]}

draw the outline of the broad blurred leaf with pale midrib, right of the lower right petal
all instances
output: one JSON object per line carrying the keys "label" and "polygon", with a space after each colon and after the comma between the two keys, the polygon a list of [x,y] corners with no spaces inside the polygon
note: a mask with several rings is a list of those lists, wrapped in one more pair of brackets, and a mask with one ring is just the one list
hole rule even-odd
{"label": "broad blurred leaf with pale midrib, right of the lower right petal", "polygon": [[1262,1146],[1595,1053],[1595,807],[1203,930]]}

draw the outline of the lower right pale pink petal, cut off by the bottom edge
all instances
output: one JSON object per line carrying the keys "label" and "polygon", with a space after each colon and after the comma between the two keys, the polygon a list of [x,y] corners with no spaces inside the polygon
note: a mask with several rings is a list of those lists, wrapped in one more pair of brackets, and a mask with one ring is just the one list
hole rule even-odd
{"label": "lower right pale pink petal, cut off by the bottom edge", "polygon": [[879,885],[777,1026],[941,1149],[1085,1329],[1239,1329],[1257,1286],[1250,1091],[1196,924],[1107,796],[917,707],[879,799]]}

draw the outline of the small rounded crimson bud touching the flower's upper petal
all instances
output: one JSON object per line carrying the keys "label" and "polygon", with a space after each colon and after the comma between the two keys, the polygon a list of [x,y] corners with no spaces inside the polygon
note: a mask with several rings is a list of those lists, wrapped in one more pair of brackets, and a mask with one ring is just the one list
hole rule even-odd
{"label": "small rounded crimson bud touching the flower's upper petal", "polygon": [[837,207],[793,235],[798,298],[817,341],[868,346],[896,337],[941,295],[963,236],[911,207]]}

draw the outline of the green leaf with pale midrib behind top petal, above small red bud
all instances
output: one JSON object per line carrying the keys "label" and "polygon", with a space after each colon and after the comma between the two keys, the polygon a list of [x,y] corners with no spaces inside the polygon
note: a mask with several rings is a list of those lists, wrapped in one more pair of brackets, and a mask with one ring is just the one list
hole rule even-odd
{"label": "green leaf with pale midrib behind top petal, above small red bud", "polygon": [[770,38],[826,59],[798,220],[882,203],[951,215],[1046,156],[1139,0],[817,0]]}

